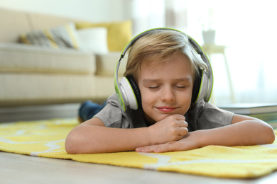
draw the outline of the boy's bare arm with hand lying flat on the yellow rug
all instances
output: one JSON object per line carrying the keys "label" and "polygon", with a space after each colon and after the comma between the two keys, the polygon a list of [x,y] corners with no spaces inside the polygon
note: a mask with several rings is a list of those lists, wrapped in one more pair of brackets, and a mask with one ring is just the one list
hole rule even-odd
{"label": "boy's bare arm with hand lying flat on the yellow rug", "polygon": [[234,115],[232,125],[189,132],[177,142],[139,147],[141,152],[165,152],[197,149],[208,145],[247,146],[271,144],[275,134],[270,125],[254,117]]}

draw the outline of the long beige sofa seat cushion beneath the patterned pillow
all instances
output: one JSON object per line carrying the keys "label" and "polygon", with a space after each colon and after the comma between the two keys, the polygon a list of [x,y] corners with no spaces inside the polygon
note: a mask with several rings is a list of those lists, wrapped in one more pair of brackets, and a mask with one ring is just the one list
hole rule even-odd
{"label": "long beige sofa seat cushion beneath the patterned pillow", "polygon": [[94,74],[95,58],[77,50],[0,43],[0,71]]}

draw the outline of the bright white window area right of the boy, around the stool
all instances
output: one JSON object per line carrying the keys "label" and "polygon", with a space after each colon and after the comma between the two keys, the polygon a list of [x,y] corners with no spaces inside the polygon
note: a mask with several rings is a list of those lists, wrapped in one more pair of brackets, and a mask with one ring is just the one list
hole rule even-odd
{"label": "bright white window area right of the boy, around the stool", "polygon": [[[202,22],[197,20],[202,20],[200,16],[208,16],[203,14],[207,9],[212,8],[214,12],[215,43],[227,46],[235,102],[277,103],[275,1],[188,2],[190,33],[198,32]],[[210,59],[214,69],[216,102],[232,103],[223,58],[215,55]]]}

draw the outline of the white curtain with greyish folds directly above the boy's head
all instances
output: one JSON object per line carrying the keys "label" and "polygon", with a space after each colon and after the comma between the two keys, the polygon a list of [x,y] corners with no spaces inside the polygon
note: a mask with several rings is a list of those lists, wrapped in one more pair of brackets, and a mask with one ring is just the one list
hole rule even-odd
{"label": "white curtain with greyish folds directly above the boy's head", "polygon": [[151,28],[185,29],[186,0],[132,0],[131,19],[134,35]]}

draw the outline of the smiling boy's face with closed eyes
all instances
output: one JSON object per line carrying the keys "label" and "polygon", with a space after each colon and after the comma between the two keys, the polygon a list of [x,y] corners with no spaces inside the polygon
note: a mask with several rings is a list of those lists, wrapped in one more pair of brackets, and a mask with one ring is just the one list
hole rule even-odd
{"label": "smiling boy's face with closed eyes", "polygon": [[155,68],[144,62],[138,85],[144,117],[151,125],[173,114],[185,115],[190,108],[193,88],[188,57],[175,53]]}

